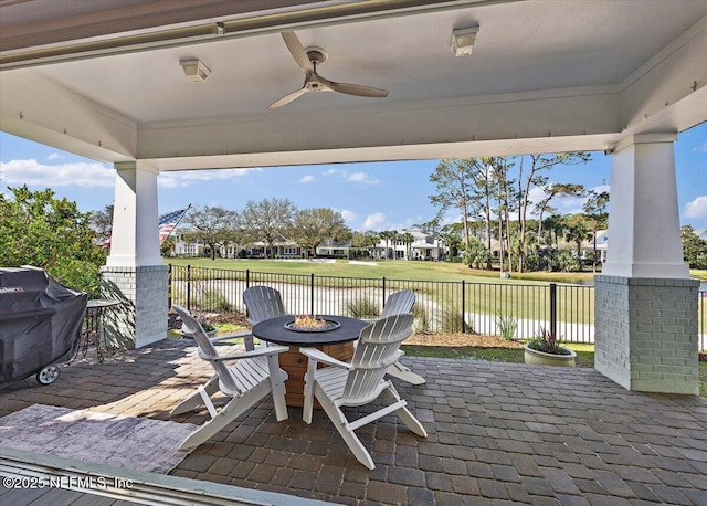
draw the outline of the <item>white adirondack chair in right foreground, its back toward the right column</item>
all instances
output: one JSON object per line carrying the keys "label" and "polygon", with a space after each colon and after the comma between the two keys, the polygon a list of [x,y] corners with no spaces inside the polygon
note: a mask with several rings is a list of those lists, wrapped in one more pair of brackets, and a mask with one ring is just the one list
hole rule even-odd
{"label": "white adirondack chair in right foreground, its back toward the right column", "polygon": [[[400,344],[412,334],[412,315],[393,315],[363,328],[351,362],[337,360],[316,348],[299,349],[308,358],[303,420],[312,423],[316,398],[356,458],[369,470],[376,468],[376,464],[354,432],[356,429],[395,413],[412,432],[428,436],[395,387],[384,378],[388,367],[400,357]],[[328,367],[318,369],[319,363]],[[351,422],[344,414],[341,408],[368,404],[381,394],[386,405],[380,410]]]}

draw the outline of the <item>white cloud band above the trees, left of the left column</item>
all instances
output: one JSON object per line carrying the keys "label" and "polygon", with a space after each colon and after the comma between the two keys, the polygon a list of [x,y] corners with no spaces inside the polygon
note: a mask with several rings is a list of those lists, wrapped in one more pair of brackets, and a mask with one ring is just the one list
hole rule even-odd
{"label": "white cloud band above the trees, left of the left column", "polygon": [[0,162],[0,173],[6,185],[41,185],[48,187],[78,186],[113,187],[115,170],[99,162],[44,165],[36,160],[10,160]]}

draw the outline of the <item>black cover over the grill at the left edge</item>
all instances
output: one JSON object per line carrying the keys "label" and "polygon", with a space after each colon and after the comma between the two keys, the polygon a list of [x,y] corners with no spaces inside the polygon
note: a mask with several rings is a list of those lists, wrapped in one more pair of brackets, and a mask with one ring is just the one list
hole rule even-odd
{"label": "black cover over the grill at the left edge", "polygon": [[0,387],[71,359],[87,302],[41,268],[0,268]]}

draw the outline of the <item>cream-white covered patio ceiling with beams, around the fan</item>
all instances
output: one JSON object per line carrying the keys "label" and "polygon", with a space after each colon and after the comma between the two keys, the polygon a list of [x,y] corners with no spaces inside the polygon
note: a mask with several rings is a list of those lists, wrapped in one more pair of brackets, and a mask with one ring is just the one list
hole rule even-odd
{"label": "cream-white covered patio ceiling with beams, around the fan", "polygon": [[[6,0],[0,30],[2,131],[158,171],[611,150],[707,120],[704,0]],[[389,96],[268,109],[304,81],[281,31]]]}

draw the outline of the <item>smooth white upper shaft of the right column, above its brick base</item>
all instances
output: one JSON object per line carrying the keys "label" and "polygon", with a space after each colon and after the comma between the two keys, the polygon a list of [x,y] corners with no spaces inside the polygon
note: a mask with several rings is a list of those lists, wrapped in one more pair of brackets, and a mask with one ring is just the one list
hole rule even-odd
{"label": "smooth white upper shaft of the right column, above its brick base", "polygon": [[683,262],[675,134],[643,134],[616,146],[611,165],[609,247],[602,274],[689,278]]}

